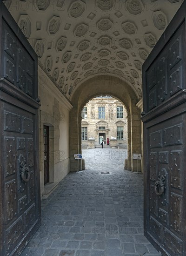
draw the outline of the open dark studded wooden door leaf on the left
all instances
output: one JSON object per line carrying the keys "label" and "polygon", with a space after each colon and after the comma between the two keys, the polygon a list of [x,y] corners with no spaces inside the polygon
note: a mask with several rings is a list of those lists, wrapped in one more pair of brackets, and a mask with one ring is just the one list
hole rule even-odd
{"label": "open dark studded wooden door leaf on the left", "polygon": [[0,255],[40,225],[37,55],[0,1]]}

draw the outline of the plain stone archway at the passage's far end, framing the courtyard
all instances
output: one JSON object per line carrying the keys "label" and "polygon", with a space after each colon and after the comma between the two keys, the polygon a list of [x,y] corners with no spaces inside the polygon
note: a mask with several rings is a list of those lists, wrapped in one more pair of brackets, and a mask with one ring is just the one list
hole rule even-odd
{"label": "plain stone archway at the passage's far end, framing the courtyard", "polygon": [[[133,89],[120,78],[108,75],[96,76],[82,83],[71,99],[73,109],[70,112],[70,162],[71,171],[78,170],[78,163],[73,154],[81,152],[81,109],[89,100],[97,95],[112,95],[126,107],[128,119],[128,169],[137,170],[133,153],[141,153],[140,110],[136,107],[139,99]],[[141,171],[141,164],[138,166]]]}

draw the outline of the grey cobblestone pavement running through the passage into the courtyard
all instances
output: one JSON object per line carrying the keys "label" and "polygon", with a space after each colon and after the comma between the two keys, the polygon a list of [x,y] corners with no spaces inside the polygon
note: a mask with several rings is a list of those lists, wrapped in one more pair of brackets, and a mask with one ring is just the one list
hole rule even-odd
{"label": "grey cobblestone pavement running through the passage into the courtyard", "polygon": [[21,256],[160,256],[143,236],[143,175],[124,170],[126,150],[82,153],[86,170],[42,200],[41,227]]}

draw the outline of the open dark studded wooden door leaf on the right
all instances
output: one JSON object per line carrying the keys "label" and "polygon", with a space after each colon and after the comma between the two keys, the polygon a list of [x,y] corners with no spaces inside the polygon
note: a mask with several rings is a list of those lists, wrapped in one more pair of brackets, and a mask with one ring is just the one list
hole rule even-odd
{"label": "open dark studded wooden door leaf on the right", "polygon": [[186,1],[143,65],[144,232],[186,256]]}

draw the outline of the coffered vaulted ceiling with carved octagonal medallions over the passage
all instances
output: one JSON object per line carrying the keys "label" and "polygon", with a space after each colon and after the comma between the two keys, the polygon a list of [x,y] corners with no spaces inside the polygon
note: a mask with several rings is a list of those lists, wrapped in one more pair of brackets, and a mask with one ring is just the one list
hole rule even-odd
{"label": "coffered vaulted ceiling with carved octagonal medallions over the passage", "polygon": [[97,75],[113,75],[142,94],[141,66],[182,0],[4,1],[67,98]]}

